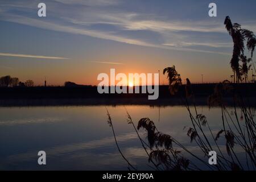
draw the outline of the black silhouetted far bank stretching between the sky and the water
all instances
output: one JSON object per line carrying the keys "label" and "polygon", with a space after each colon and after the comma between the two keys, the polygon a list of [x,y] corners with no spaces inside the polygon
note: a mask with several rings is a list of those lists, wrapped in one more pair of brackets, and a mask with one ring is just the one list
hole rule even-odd
{"label": "black silhouetted far bank stretching between the sky and the water", "polygon": [[[207,105],[207,98],[216,84],[192,84],[195,90],[196,105]],[[231,84],[243,96],[250,98],[251,106],[256,106],[256,84]],[[180,94],[185,85],[180,86],[177,94],[170,96],[167,85],[159,86],[158,100],[148,100],[148,94],[99,94],[97,86],[34,86],[0,87],[0,105],[181,105]],[[224,96],[227,104],[233,98]]]}

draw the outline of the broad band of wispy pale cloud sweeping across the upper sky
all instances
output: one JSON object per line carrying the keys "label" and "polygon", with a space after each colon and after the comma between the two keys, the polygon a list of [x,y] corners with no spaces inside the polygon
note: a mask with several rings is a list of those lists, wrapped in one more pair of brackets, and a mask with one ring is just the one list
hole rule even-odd
{"label": "broad band of wispy pale cloud sweeping across the upper sky", "polygon": [[[223,20],[172,19],[136,9],[122,11],[118,6],[124,3],[121,0],[55,0],[46,3],[47,14],[51,15],[49,19],[31,16],[34,8],[29,0],[22,4],[17,2],[10,5],[8,2],[4,7],[0,6],[0,13],[1,7],[5,10],[0,19],[160,49],[226,54],[226,48],[232,48],[232,40],[226,35]],[[14,8],[24,11],[23,14],[15,13],[12,11]],[[256,27],[253,23],[255,21],[244,27],[254,31]],[[225,40],[218,38],[220,34],[226,35]]]}

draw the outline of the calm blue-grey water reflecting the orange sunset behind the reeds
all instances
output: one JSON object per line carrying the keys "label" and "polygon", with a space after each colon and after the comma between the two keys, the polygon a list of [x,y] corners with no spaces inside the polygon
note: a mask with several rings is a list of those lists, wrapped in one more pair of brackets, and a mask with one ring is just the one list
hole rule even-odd
{"label": "calm blue-grey water reflecting the orange sunset behind the reeds", "polygon": [[[148,117],[159,131],[172,135],[189,150],[199,152],[187,136],[187,128],[192,125],[183,106],[106,107],[112,116],[123,154],[138,169],[150,168],[133,127],[126,122],[125,107],[136,125],[139,119]],[[207,106],[199,106],[197,109],[207,116],[214,134],[222,129],[219,108],[209,110]],[[0,170],[125,170],[127,164],[115,146],[106,118],[105,106],[0,107]],[[146,139],[144,131],[140,134]],[[225,148],[223,137],[220,144]],[[46,166],[37,163],[40,150],[46,151]],[[242,152],[240,155],[243,155]],[[208,158],[202,158],[208,161]]]}

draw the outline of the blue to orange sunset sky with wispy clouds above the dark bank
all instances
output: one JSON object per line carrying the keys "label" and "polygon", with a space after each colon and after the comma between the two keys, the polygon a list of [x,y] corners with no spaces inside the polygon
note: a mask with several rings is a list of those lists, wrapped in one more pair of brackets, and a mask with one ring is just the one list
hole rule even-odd
{"label": "blue to orange sunset sky with wispy clouds above the dark bank", "polygon": [[[38,16],[40,2],[46,17]],[[208,15],[211,2],[217,17]],[[97,85],[110,68],[128,75],[175,65],[183,80],[230,80],[224,19],[255,33],[255,7],[254,0],[0,0],[0,76]],[[162,74],[160,84],[167,84]]]}

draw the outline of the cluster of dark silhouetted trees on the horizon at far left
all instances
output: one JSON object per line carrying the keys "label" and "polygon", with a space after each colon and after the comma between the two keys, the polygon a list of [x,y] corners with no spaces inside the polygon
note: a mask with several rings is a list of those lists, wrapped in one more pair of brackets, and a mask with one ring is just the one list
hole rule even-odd
{"label": "cluster of dark silhouetted trees on the horizon at far left", "polygon": [[15,86],[34,86],[34,81],[27,80],[25,82],[19,81],[19,78],[11,77],[9,75],[0,77],[1,87],[15,87]]}

